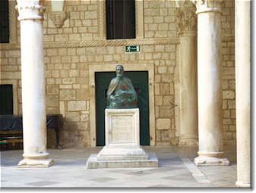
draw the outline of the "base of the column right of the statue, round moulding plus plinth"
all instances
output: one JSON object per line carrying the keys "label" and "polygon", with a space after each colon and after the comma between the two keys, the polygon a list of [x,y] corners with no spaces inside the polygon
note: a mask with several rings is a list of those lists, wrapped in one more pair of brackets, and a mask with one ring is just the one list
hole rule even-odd
{"label": "base of the column right of the statue, round moulding plus plinth", "polygon": [[202,166],[229,166],[229,160],[222,157],[223,152],[200,152],[198,157],[194,158],[194,164]]}

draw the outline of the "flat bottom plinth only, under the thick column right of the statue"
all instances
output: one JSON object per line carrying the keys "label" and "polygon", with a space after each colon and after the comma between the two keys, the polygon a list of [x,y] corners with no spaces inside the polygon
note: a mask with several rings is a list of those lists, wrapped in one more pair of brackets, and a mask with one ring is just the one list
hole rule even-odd
{"label": "flat bottom plinth only, under the thick column right of the statue", "polygon": [[203,166],[229,166],[229,160],[224,157],[211,157],[207,155],[199,155],[194,158],[194,164],[198,167]]}

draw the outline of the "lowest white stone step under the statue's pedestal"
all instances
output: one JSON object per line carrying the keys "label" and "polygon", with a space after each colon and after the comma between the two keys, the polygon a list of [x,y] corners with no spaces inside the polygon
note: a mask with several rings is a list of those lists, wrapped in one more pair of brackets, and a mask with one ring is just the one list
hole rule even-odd
{"label": "lowest white stone step under the statue's pedestal", "polygon": [[91,154],[87,160],[88,169],[124,168],[124,167],[158,167],[156,154],[148,154],[147,160],[97,160],[97,154]]}

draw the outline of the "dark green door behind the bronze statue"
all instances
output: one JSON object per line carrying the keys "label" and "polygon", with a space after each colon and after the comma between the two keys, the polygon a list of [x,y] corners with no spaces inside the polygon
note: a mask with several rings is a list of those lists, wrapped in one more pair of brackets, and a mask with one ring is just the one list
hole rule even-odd
{"label": "dark green door behind the bronze statue", "polygon": [[[137,104],[140,109],[140,143],[150,145],[149,99],[147,71],[125,71],[137,92]],[[95,73],[96,82],[96,145],[105,145],[105,109],[106,92],[115,72]]]}

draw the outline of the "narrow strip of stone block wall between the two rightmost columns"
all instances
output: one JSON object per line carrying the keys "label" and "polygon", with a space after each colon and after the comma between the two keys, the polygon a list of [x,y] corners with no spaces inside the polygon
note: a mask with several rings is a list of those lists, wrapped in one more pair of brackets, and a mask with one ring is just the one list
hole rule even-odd
{"label": "narrow strip of stone block wall between the two rightmost columns", "polygon": [[235,1],[223,1],[223,140],[233,144],[235,132]]}

